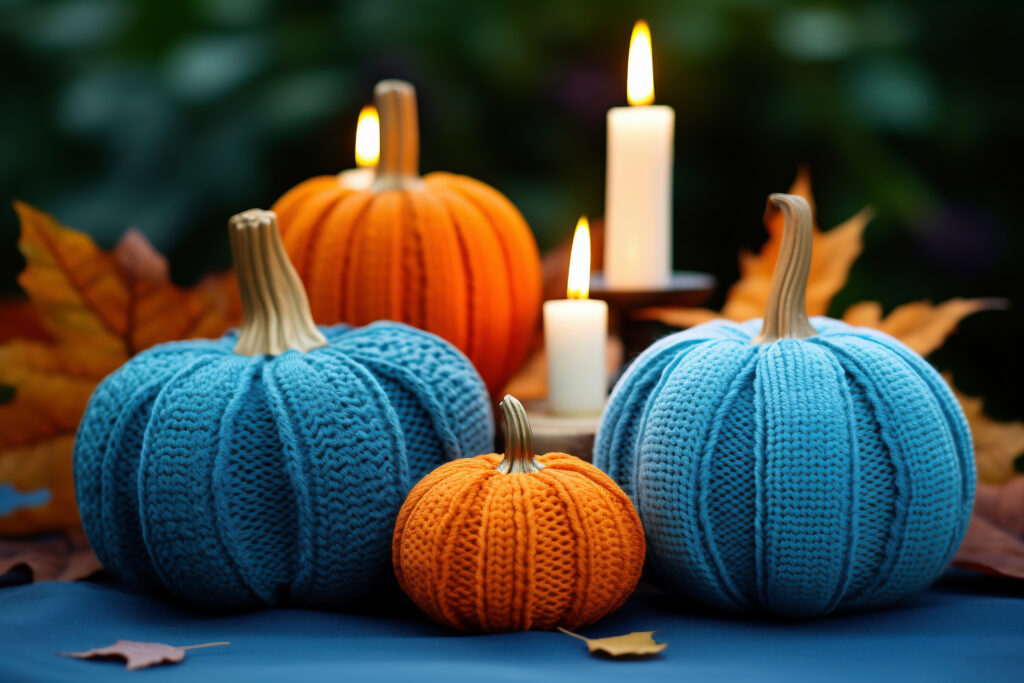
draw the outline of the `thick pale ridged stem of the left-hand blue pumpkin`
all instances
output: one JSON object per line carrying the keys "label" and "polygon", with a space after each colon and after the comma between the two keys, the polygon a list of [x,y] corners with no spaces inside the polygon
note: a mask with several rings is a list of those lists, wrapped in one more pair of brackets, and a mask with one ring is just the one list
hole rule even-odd
{"label": "thick pale ridged stem of the left-hand blue pumpkin", "polygon": [[288,260],[272,211],[250,209],[227,221],[242,295],[242,331],[234,352],[278,355],[327,344],[313,324],[302,281]]}

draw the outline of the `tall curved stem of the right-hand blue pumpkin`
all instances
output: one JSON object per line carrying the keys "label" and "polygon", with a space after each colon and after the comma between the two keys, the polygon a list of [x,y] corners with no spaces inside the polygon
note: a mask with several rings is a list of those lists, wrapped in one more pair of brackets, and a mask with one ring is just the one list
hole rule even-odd
{"label": "tall curved stem of the right-hand blue pumpkin", "polygon": [[807,318],[807,279],[811,272],[814,237],[811,207],[798,195],[775,194],[768,201],[782,211],[785,224],[765,306],[764,326],[755,344],[818,334]]}

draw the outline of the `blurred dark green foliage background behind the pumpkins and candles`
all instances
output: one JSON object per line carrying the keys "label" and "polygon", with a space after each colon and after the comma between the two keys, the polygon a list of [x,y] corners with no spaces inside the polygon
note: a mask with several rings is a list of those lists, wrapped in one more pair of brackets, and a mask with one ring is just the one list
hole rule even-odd
{"label": "blurred dark green foliage background behind the pumpkins and candles", "polygon": [[[677,115],[676,266],[731,283],[765,197],[806,163],[822,227],[878,210],[831,312],[1007,297],[932,359],[1024,418],[1019,0],[0,0],[0,196],[102,246],[137,226],[188,284],[226,266],[227,216],[352,166],[359,108],[399,77],[423,170],[496,185],[543,249],[603,210],[604,117],[641,16]],[[0,212],[3,294],[16,231]]]}

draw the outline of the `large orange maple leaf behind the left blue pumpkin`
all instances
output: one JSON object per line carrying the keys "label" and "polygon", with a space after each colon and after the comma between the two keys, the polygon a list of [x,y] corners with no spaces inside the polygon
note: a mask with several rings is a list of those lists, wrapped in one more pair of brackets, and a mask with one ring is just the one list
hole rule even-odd
{"label": "large orange maple leaf behind the left blue pumpkin", "polygon": [[[33,533],[78,523],[71,457],[75,430],[96,384],[134,353],[173,339],[216,337],[241,317],[231,273],[191,289],[170,282],[167,261],[129,230],[104,252],[86,234],[15,202],[18,283],[35,323],[5,330],[0,385],[0,483],[20,492],[48,489],[50,500],[0,519],[0,533]],[[10,304],[24,319],[24,304]],[[40,334],[45,331],[49,339]]]}

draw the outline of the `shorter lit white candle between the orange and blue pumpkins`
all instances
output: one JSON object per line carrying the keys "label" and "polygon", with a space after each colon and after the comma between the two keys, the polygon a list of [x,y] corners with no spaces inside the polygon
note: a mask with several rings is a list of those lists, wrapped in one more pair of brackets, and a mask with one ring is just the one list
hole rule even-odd
{"label": "shorter lit white candle between the orange and blue pumpkins", "polygon": [[555,415],[598,415],[607,387],[608,304],[590,294],[590,227],[580,218],[569,256],[568,298],[544,302],[548,407]]}

